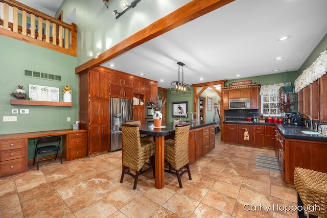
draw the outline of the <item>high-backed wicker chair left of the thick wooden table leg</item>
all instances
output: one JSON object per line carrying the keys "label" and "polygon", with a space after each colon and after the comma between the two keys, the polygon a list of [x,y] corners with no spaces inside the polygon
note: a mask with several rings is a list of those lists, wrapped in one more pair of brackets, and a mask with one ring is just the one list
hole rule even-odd
{"label": "high-backed wicker chair left of the thick wooden table leg", "polygon": [[[151,169],[153,169],[154,178],[154,151],[155,142],[149,140],[141,140],[139,137],[139,127],[136,124],[122,124],[122,137],[123,137],[123,170],[121,176],[121,183],[124,180],[124,175],[128,174],[134,178],[133,189],[136,189],[137,179],[139,175],[142,175]],[[151,158],[151,163],[148,163],[148,159]],[[148,165],[145,170],[142,169],[144,165]],[[135,175],[132,174],[129,169],[135,171]]]}

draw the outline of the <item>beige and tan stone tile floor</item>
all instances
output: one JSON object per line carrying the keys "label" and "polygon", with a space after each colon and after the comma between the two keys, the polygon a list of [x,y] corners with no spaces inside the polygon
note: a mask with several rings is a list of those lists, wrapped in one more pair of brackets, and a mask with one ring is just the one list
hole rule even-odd
{"label": "beige and tan stone tile floor", "polygon": [[165,188],[154,188],[152,172],[136,190],[130,176],[120,183],[121,151],[62,165],[41,161],[40,171],[29,166],[0,178],[0,217],[297,217],[281,211],[296,205],[296,190],[280,173],[255,168],[258,154],[275,156],[225,144],[218,133],[216,148],[192,165],[192,180],[183,175],[182,189],[169,174]]}

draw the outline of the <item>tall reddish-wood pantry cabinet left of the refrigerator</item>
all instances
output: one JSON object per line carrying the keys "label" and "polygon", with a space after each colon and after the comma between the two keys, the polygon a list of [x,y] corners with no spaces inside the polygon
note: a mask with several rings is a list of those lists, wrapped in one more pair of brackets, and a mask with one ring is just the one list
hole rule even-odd
{"label": "tall reddish-wood pantry cabinet left of the refrigerator", "polygon": [[79,75],[79,118],[88,130],[87,155],[109,151],[109,72],[103,67]]}

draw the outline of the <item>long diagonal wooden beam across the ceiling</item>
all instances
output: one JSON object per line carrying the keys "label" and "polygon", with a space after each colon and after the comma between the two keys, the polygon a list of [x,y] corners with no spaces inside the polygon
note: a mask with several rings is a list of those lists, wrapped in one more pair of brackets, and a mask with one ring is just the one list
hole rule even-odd
{"label": "long diagonal wooden beam across the ceiling", "polygon": [[167,33],[186,22],[194,20],[233,1],[235,0],[193,0],[167,16],[153,22],[146,28],[134,33],[123,41],[115,44],[97,57],[77,66],[75,68],[75,73],[79,74],[88,68],[94,68],[103,64],[144,42]]}

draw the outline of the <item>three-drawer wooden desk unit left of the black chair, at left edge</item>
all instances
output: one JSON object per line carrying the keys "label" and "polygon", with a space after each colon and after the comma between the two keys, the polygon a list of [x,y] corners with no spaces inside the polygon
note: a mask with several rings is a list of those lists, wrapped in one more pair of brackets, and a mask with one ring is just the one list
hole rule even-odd
{"label": "three-drawer wooden desk unit left of the black chair, at left edge", "polygon": [[0,177],[27,171],[27,139],[0,141]]}

